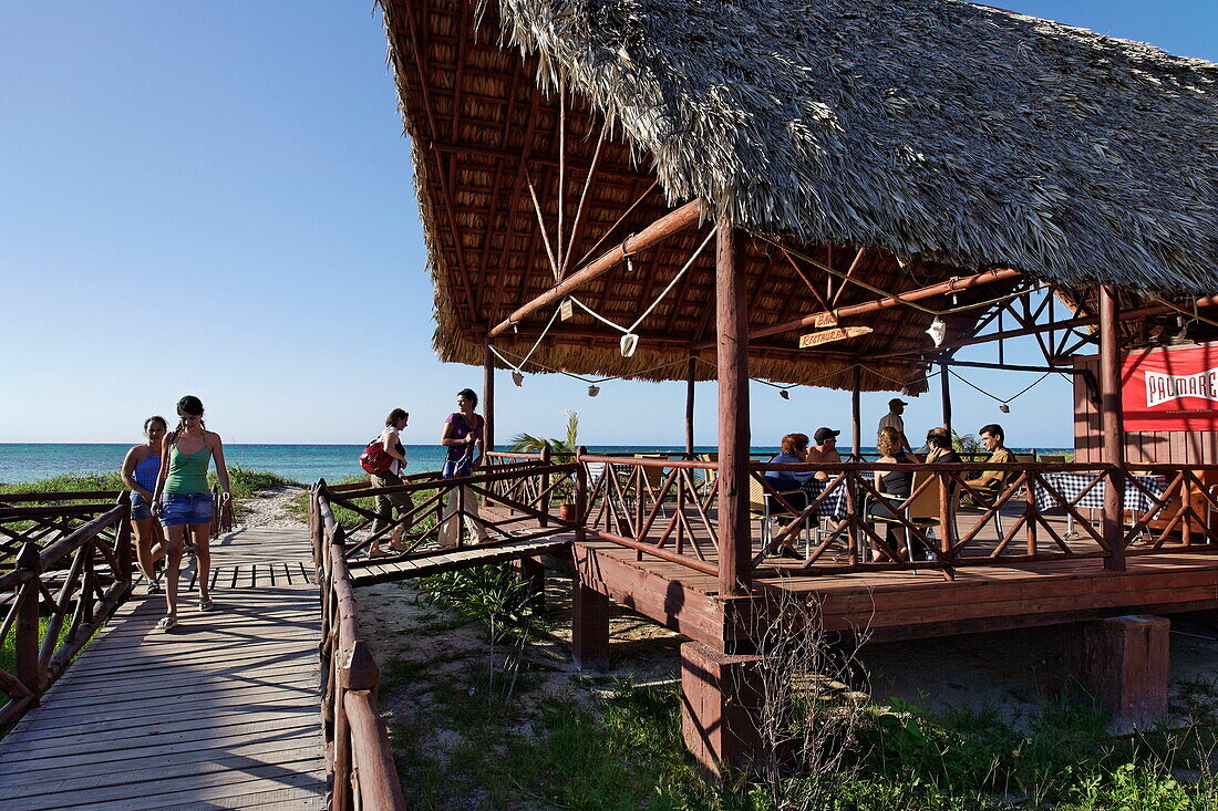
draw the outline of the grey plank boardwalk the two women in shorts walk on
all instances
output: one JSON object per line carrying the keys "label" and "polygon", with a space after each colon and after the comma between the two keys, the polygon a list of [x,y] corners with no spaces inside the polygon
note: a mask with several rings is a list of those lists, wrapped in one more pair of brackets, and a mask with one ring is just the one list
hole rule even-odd
{"label": "grey plank boardwalk the two women in shorts walk on", "polygon": [[0,740],[0,807],[325,806],[308,533],[238,530],[212,549],[218,610],[186,593],[160,633],[164,598],[136,586]]}

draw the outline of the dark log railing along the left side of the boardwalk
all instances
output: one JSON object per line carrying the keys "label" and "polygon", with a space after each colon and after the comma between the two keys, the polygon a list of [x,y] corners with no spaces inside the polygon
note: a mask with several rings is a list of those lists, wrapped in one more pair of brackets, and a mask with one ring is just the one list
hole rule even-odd
{"label": "dark log railing along the left side of the boardwalk", "polygon": [[[89,503],[99,498],[110,500]],[[132,546],[125,493],[0,499],[0,649],[15,662],[12,672],[0,667],[2,727],[38,704],[130,594]]]}

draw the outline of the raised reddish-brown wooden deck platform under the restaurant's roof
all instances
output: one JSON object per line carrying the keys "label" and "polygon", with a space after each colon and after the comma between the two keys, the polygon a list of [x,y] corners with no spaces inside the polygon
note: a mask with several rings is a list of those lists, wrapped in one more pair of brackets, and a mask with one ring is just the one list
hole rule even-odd
{"label": "raised reddish-brown wooden deck platform under the restaurant's roof", "polygon": [[[486,508],[484,508],[486,509]],[[493,508],[492,508],[493,509]],[[1006,511],[1007,526],[1018,516]],[[1050,516],[1065,533],[1066,518]],[[759,521],[752,524],[753,548],[760,550]],[[561,536],[559,536],[561,537]],[[996,531],[978,538],[971,555],[998,544]],[[716,564],[713,544],[702,548]],[[1099,549],[1075,539],[1082,554]],[[755,591],[772,589],[821,603],[826,627],[867,628],[872,637],[905,639],[977,631],[1056,625],[1119,613],[1161,613],[1218,608],[1218,547],[1136,554],[1127,570],[1106,571],[1097,556],[1063,556],[1035,563],[1004,561],[961,566],[948,581],[932,569],[820,574],[769,561],[754,576]],[[722,599],[719,580],[610,541],[588,539],[572,547],[585,585],[618,603],[717,649],[747,642],[767,622],[758,598]],[[827,566],[833,565],[829,556]],[[760,587],[760,588],[756,588]]]}

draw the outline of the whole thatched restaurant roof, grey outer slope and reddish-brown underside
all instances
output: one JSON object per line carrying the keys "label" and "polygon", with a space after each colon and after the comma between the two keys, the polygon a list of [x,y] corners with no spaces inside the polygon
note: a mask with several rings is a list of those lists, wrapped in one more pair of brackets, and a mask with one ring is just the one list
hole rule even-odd
{"label": "whole thatched restaurant roof, grey outer slope and reddish-brown underside", "polygon": [[[818,309],[766,235],[834,268],[868,248],[859,272],[885,291],[994,267],[1078,286],[1218,290],[1212,63],[955,0],[382,5],[446,359],[476,363],[488,325],[553,284],[518,169],[529,167],[553,223],[560,75],[571,91],[568,225],[600,123],[614,124],[571,253],[591,248],[654,178],[607,245],[702,197],[760,237],[747,251],[754,326]],[[704,233],[670,240],[646,272],[605,276],[583,297],[628,324]],[[704,257],[644,325],[654,335],[632,359],[620,357],[619,334],[585,317],[533,357],[590,374],[677,360],[713,337],[713,291]],[[851,289],[842,303],[868,297]],[[848,385],[851,357],[926,345],[922,320],[872,318],[876,332],[837,354],[794,352],[787,336],[754,348],[752,373]],[[523,356],[527,332],[504,347]],[[916,367],[872,363],[864,387],[899,387]]]}

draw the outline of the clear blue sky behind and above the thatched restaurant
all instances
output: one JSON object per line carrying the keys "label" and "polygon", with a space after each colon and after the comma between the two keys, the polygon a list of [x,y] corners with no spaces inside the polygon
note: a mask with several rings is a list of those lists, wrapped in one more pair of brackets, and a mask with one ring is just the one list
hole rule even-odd
{"label": "clear blue sky behind and above the thatched restaurant", "polygon": [[[996,5],[1218,58],[1213,0]],[[362,442],[395,406],[409,442],[434,442],[481,373],[431,351],[396,105],[370,1],[0,0],[0,442],[135,441],[186,392],[228,442]],[[961,373],[1000,396],[1035,379]],[[682,441],[683,384],[590,399],[501,373],[499,392],[501,441],[557,434],[566,408],[588,443]],[[1071,443],[1063,381],[1009,415],[952,392],[963,430],[1001,419],[1013,444]],[[698,396],[713,443],[714,386]],[[888,397],[865,396],[865,425]],[[907,424],[938,409],[932,390]],[[844,392],[753,388],[758,444],[848,423]]]}

